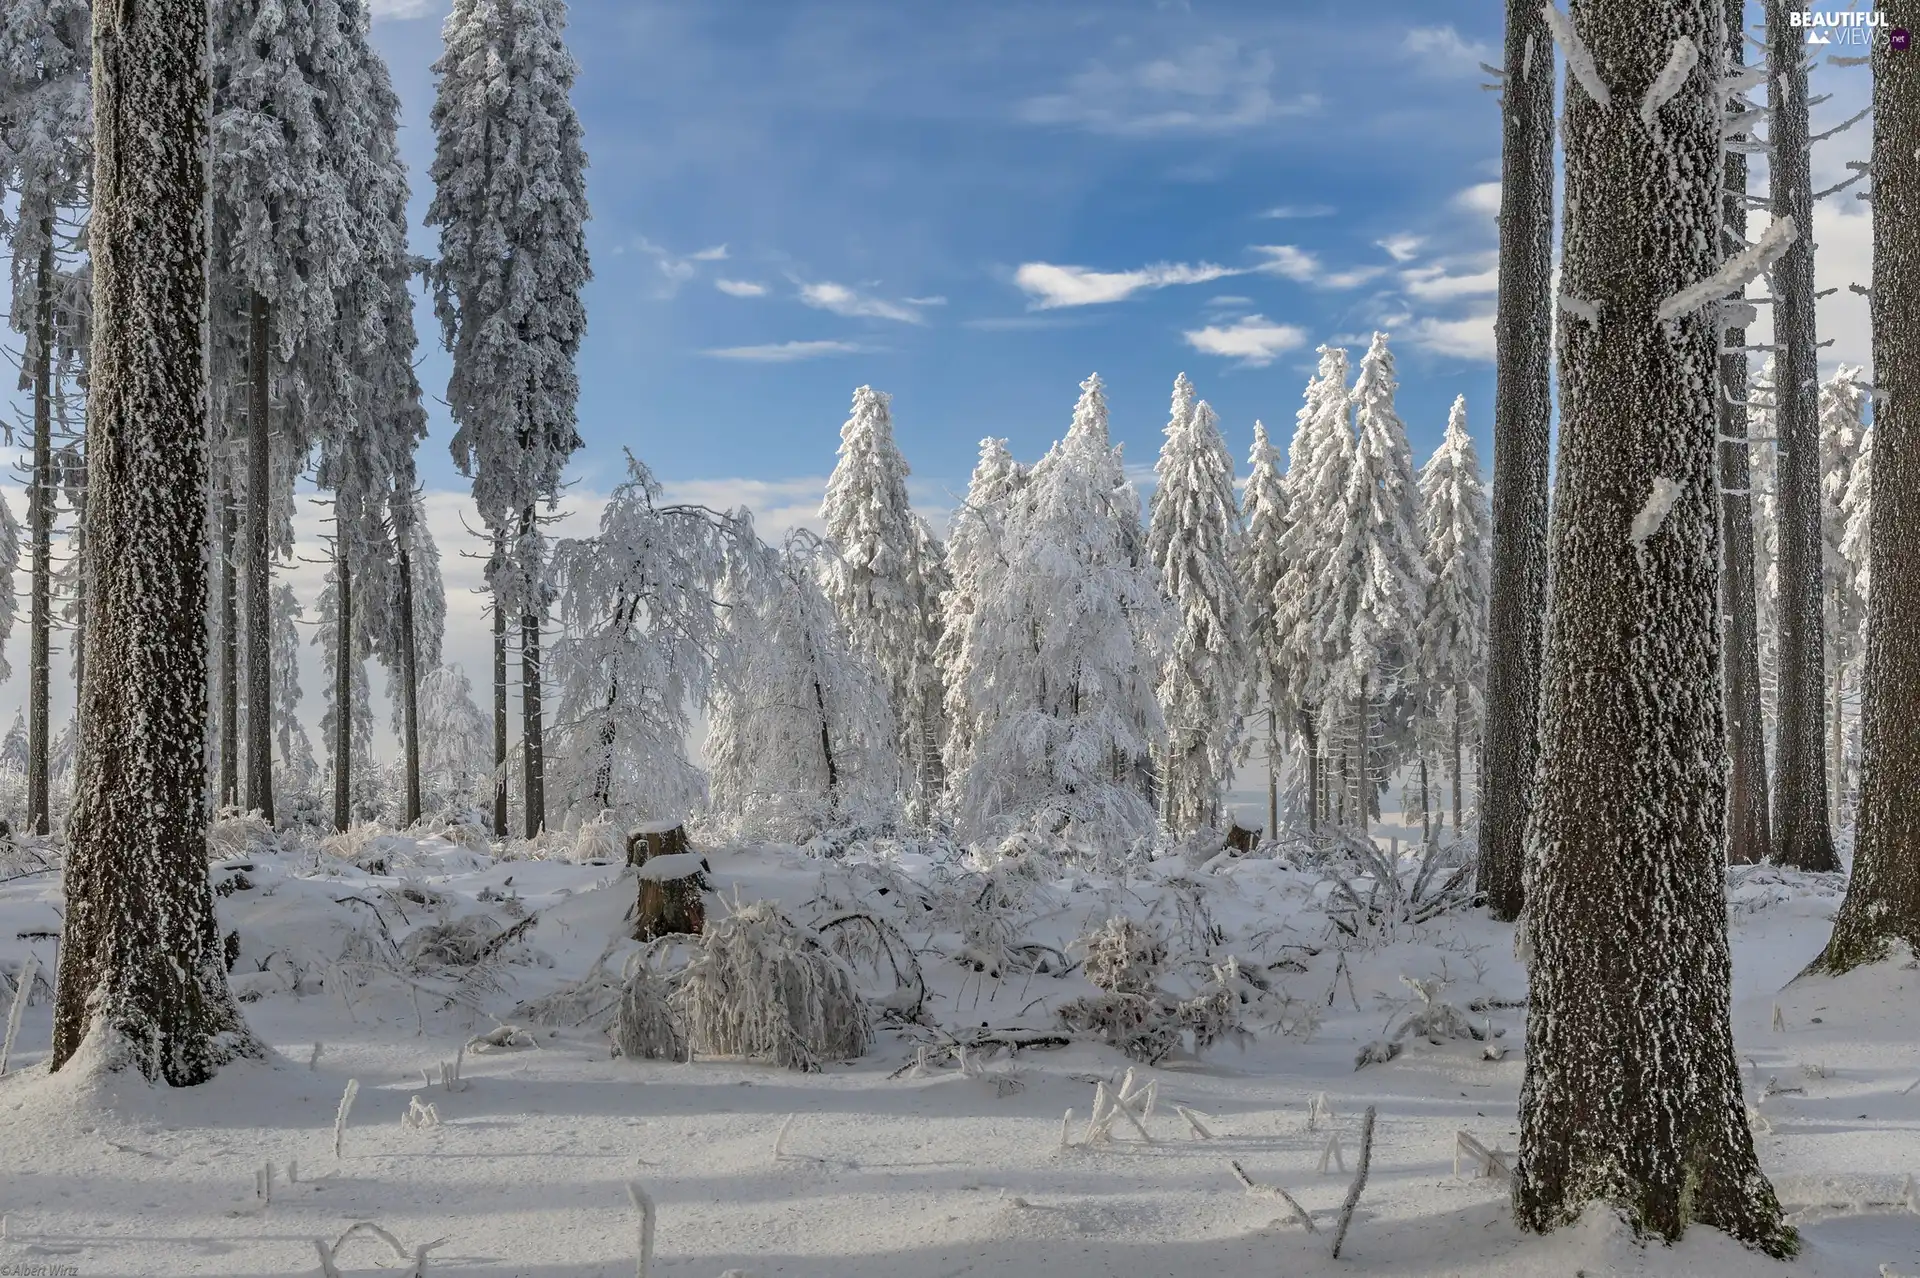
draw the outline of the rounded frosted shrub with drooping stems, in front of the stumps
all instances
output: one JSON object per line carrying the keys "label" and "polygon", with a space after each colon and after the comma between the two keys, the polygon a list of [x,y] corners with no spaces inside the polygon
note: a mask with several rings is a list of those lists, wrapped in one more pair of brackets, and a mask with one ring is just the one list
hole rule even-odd
{"label": "rounded frosted shrub with drooping stems, in front of the stumps", "polygon": [[866,1002],[852,971],[772,904],[710,923],[672,1009],[695,1052],[814,1071],[866,1052]]}

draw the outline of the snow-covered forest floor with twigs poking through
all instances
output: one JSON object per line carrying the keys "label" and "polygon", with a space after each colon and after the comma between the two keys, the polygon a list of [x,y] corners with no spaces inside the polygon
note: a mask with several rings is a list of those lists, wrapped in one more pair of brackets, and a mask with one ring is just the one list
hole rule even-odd
{"label": "snow-covered forest floor with twigs poking through", "polygon": [[[712,850],[718,915],[753,900],[810,923],[860,910],[918,950],[939,1029],[881,1023],[868,1055],[801,1075],[611,1053],[595,1029],[611,986],[576,982],[603,954],[616,975],[636,948],[616,940],[636,894],[616,864],[401,837],[359,839],[346,848],[359,865],[340,850],[252,848],[215,869],[232,887],[219,908],[240,936],[234,984],[271,1061],[190,1090],[48,1075],[46,990],[25,1009],[0,1078],[0,1272],[317,1274],[315,1240],[372,1220],[407,1251],[444,1240],[426,1253],[436,1278],[632,1274],[636,1182],[657,1203],[653,1278],[1920,1276],[1920,967],[1789,984],[1826,938],[1839,875],[1730,881],[1755,1140],[1805,1240],[1776,1265],[1711,1230],[1644,1247],[1605,1211],[1551,1238],[1513,1228],[1500,1176],[1457,1155],[1459,1132],[1509,1155],[1517,1144],[1524,982],[1513,929],[1482,911],[1356,919],[1325,867],[1258,858],[1073,869],[1035,856],[977,873],[912,846],[831,862]],[[29,952],[48,971],[58,910],[54,873],[0,885],[0,971],[17,977]],[[1248,986],[1252,1040],[1156,1065],[1089,1042],[956,1063],[945,1044],[962,1027],[1044,1030],[1091,994],[1079,969],[1020,967],[1056,967],[1048,948],[1079,958],[1071,942],[1116,913],[1167,938],[1169,988],[1200,988],[1229,956],[1258,973],[1271,988]],[[532,923],[478,963],[419,944],[449,923],[440,936],[457,940],[461,919],[478,919],[476,936]],[[557,990],[580,1015],[549,1002],[536,1025],[526,1000]],[[1427,1000],[1478,1038],[1402,1032],[1394,1059],[1356,1069]],[[459,1090],[442,1086],[442,1065],[497,1025],[528,1036],[467,1052]],[[1121,1121],[1085,1144],[1096,1084],[1117,1090],[1129,1069],[1135,1094],[1156,1084],[1150,1113],[1135,1103],[1152,1140]],[[413,1098],[438,1121],[405,1124]],[[1369,1105],[1371,1174],[1334,1261]],[[1290,1192],[1315,1232],[1246,1190],[1235,1163]],[[334,1265],[411,1261],[359,1238]]]}

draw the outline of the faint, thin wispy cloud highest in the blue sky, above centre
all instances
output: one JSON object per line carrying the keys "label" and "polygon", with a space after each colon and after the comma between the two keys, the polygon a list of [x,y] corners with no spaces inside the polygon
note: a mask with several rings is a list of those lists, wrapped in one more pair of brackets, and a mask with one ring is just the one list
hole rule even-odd
{"label": "faint, thin wispy cloud highest in the blue sky, above centre", "polygon": [[1240,132],[1317,109],[1313,94],[1275,96],[1269,54],[1217,38],[1125,67],[1094,63],[1064,92],[1023,102],[1020,115],[1033,125],[1162,136]]}

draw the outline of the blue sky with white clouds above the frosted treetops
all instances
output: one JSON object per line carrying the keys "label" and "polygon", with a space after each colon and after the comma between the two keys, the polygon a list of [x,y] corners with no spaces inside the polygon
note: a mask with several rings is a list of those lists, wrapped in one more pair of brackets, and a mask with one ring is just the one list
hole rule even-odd
{"label": "blue sky with white clouds above the frosted treetops", "polygon": [[[442,15],[396,0],[374,29],[417,211]],[[1455,393],[1484,434],[1500,130],[1475,63],[1498,23],[1490,2],[574,4],[580,487],[630,447],[716,501],[804,505],[868,382],[945,509],[981,436],[1037,457],[1091,370],[1129,461],[1181,370],[1244,457],[1256,416],[1292,430],[1317,343],[1377,326],[1417,451]],[[445,386],[438,349],[422,372]],[[424,472],[453,485],[434,409]]]}

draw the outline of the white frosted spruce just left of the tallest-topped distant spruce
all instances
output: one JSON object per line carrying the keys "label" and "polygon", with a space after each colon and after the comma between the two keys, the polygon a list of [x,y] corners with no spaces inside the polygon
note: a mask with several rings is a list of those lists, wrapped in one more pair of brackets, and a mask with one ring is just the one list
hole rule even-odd
{"label": "white frosted spruce just left of the tallest-topped distant spruce", "polygon": [[1281,539],[1281,581],[1273,589],[1275,652],[1306,733],[1313,775],[1309,825],[1331,814],[1327,750],[1321,714],[1327,685],[1352,624],[1350,595],[1331,585],[1332,551],[1344,533],[1348,472],[1354,468],[1354,399],[1346,384],[1346,351],[1319,347],[1319,368],[1308,382],[1306,403],[1294,414],[1294,439],[1286,453],[1288,526]]}

